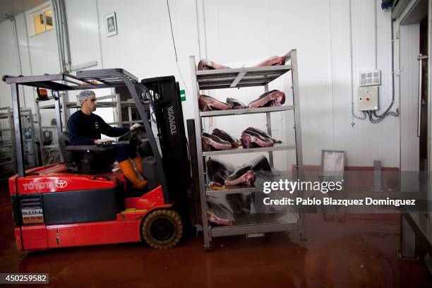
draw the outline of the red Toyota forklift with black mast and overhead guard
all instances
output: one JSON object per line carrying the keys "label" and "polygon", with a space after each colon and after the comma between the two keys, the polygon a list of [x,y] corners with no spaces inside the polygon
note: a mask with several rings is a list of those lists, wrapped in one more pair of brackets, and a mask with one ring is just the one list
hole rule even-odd
{"label": "red Toyota forklift with black mast and overhead guard", "polygon": [[[18,174],[9,179],[9,190],[18,250],[138,241],[153,248],[178,244],[187,229],[191,169],[174,76],[139,82],[131,73],[112,68],[78,71],[76,76],[4,76],[3,80],[11,84],[16,127]],[[36,88],[38,97],[42,88],[52,92],[60,164],[25,171],[19,85]],[[136,104],[143,127],[129,131],[119,141],[138,145],[144,152],[145,191],[132,191],[121,170],[112,171],[110,145],[71,145],[63,131],[59,92],[98,88],[123,89]]]}

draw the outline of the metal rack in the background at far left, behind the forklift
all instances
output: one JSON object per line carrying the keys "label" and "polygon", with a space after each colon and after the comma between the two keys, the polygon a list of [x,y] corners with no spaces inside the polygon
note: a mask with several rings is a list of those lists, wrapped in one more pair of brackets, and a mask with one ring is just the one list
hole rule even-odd
{"label": "metal rack in the background at far left, behind the forklift", "polygon": [[[11,173],[15,173],[16,172],[16,149],[15,149],[15,126],[13,126],[13,109],[11,109],[11,107],[1,107],[0,108],[0,120],[1,119],[7,119],[8,120],[8,124],[6,124],[8,127],[7,128],[1,128],[0,131],[2,132],[2,134],[4,134],[4,132],[8,132],[11,133],[11,137],[8,141],[4,141],[4,138],[1,137],[1,143],[0,143],[0,149],[8,149],[9,151],[6,153],[10,153],[10,156],[6,156],[6,157],[0,157],[0,164],[2,166],[6,165],[6,166],[13,166],[13,169],[11,169]],[[22,117],[28,117],[29,121],[29,126],[26,127],[29,129],[30,131],[30,138],[26,138],[24,140],[24,143],[32,143],[32,152],[25,152],[25,156],[30,156],[32,155],[34,157],[34,164],[37,164],[37,157],[35,157],[35,151],[36,151],[36,144],[35,144],[35,126],[33,123],[33,117],[32,117],[32,110],[30,108],[25,108],[22,107],[20,108],[20,112],[21,112],[21,116]],[[23,144],[23,145],[27,145],[27,144]],[[6,161],[4,161],[6,160]],[[4,173],[2,173],[4,174]],[[1,178],[3,178],[4,175],[1,175]]]}

